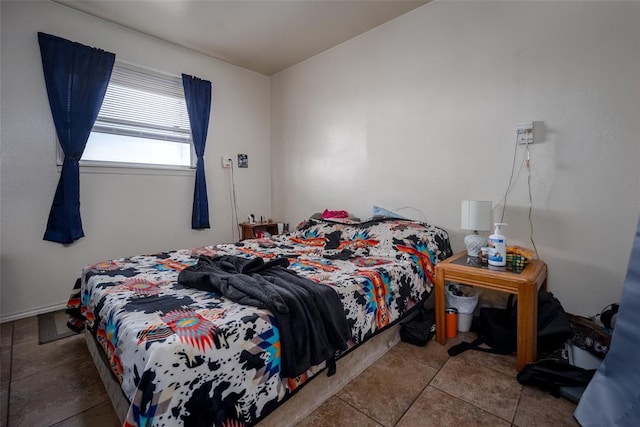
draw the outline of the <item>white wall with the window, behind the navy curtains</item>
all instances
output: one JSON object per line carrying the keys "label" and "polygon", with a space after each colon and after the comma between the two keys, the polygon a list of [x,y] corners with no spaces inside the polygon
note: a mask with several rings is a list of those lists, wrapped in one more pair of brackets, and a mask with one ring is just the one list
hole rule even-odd
{"label": "white wall with the window, behind the navy curtains", "polygon": [[[48,1],[3,1],[1,7],[1,320],[65,304],[84,265],[233,240],[229,170],[220,167],[223,154],[234,159],[238,153],[249,155],[249,168],[235,172],[240,209],[270,214],[267,77]],[[210,230],[191,230],[193,173],[82,169],[85,237],[69,246],[42,240],[59,172],[38,31],[99,47],[117,59],[213,83],[205,153]]]}

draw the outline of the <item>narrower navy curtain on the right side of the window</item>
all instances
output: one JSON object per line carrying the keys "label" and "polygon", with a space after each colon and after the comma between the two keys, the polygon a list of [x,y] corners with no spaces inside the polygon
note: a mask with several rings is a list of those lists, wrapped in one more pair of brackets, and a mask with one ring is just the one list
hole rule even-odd
{"label": "narrower navy curtain on the right side of the window", "polygon": [[204,148],[207,145],[209,113],[211,112],[211,82],[197,77],[182,75],[184,97],[191,122],[191,136],[198,157],[196,163],[196,183],[193,189],[193,210],[191,228],[209,227],[209,201],[207,180],[204,176]]}

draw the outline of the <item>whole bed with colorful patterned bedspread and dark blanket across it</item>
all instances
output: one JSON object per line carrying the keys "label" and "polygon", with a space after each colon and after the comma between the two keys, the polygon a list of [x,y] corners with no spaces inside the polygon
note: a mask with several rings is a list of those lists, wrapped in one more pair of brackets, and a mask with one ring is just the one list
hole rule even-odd
{"label": "whole bed with colorful patterned bedspread and dark blanket across it", "polygon": [[[109,394],[123,424],[254,425],[311,379],[339,382],[336,361],[397,327],[451,254],[446,231],[425,223],[310,218],[289,234],[86,266],[69,310],[81,315],[103,379],[116,384]],[[209,267],[221,282],[203,278]],[[280,295],[302,292],[288,278],[322,293],[296,297],[309,306],[280,308],[270,305],[279,296],[262,302],[253,288],[238,298],[253,283],[247,277]],[[223,285],[207,287],[214,282]],[[318,348],[325,342],[329,350]]]}

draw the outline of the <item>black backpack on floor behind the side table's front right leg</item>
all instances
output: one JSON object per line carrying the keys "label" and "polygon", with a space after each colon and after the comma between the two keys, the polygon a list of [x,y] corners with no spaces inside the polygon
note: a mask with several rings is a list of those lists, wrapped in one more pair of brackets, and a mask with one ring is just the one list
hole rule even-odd
{"label": "black backpack on floor behind the side table's front right leg", "polygon": [[[517,304],[517,302],[516,302]],[[497,354],[511,354],[517,348],[518,311],[509,295],[507,308],[482,307],[475,327],[478,338],[462,342],[449,349],[455,356],[466,350],[478,350]],[[549,352],[562,347],[571,336],[571,324],[562,304],[551,292],[538,292],[538,351]],[[480,347],[487,344],[490,348]]]}

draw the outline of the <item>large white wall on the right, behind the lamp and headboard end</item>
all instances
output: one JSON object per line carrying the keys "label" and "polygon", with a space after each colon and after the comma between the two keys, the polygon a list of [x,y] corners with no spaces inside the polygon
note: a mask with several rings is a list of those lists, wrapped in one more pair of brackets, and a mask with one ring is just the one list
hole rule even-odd
{"label": "large white wall on the right, behind the lamp and headboard end", "polygon": [[[460,200],[500,202],[515,125],[535,120],[549,288],[599,313],[620,298],[640,212],[639,42],[637,2],[435,2],[285,70],[271,84],[274,215],[410,205],[462,250]],[[505,222],[531,246],[526,176]]]}

